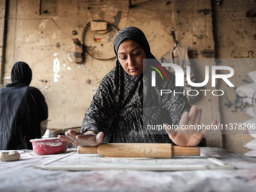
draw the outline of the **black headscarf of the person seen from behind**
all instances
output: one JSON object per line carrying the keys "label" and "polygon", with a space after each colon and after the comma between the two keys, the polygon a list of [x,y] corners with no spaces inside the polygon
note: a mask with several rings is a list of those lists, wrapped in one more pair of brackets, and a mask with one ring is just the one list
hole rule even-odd
{"label": "black headscarf of the person seen from behind", "polygon": [[11,69],[11,82],[29,85],[32,80],[32,71],[26,62],[16,62]]}

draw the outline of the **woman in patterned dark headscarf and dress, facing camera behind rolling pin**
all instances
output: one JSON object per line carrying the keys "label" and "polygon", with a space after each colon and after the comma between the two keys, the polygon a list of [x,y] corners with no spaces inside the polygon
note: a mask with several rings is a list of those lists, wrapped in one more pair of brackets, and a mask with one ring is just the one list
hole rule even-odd
{"label": "woman in patterned dark headscarf and dress, facing camera behind rolling pin", "polygon": [[[200,123],[202,110],[193,106],[182,94],[168,94],[161,101],[160,108],[154,103],[148,107],[145,99],[152,97],[143,88],[145,83],[143,59],[155,59],[150,51],[144,33],[136,27],[125,27],[117,32],[114,38],[114,52],[117,56],[116,66],[99,84],[93,102],[85,114],[81,132],[69,130],[66,136],[59,139],[80,146],[96,146],[108,142],[137,142],[137,143],[173,143],[181,146],[198,145],[204,133],[183,134],[182,130],[166,130],[164,134],[150,134],[143,128],[143,110],[166,111],[169,120],[163,123],[181,125],[196,125]],[[175,87],[175,76],[164,69],[170,87]],[[175,87],[181,92],[182,88]],[[147,104],[148,105],[148,104]],[[148,119],[150,119],[150,115]],[[213,124],[216,121],[212,122]]]}

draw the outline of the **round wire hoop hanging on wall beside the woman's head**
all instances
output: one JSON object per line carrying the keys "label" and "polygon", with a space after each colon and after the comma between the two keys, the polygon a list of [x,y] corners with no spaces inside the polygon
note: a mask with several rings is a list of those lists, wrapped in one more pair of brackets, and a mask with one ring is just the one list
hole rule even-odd
{"label": "round wire hoop hanging on wall beside the woman's head", "polygon": [[[92,39],[91,37],[86,38],[87,33],[90,32],[88,29],[91,26],[91,22],[107,23],[107,27],[106,27],[105,30],[102,30],[102,31],[99,30],[99,31],[94,31],[93,32],[93,42],[91,41],[91,39]],[[91,30],[91,32],[92,32],[92,30]],[[108,50],[109,50],[110,53],[113,53],[113,47],[112,47],[113,46],[113,41],[112,40],[114,38],[114,35],[117,32],[118,32],[117,26],[114,26],[112,23],[108,23],[105,20],[92,20],[92,21],[88,22],[87,25],[84,26],[84,29],[83,29],[82,35],[81,35],[81,41],[82,41],[82,44],[84,45],[84,51],[89,56],[91,56],[93,59],[98,59],[98,60],[114,59],[116,56],[111,56],[109,58],[101,58],[100,55],[103,54],[102,52],[108,52]],[[98,35],[99,38],[96,38],[95,35]],[[86,39],[89,40],[88,44],[87,44],[88,41],[86,41]],[[105,41],[102,42],[103,40],[105,40]],[[95,56],[95,54],[98,54],[99,56]]]}

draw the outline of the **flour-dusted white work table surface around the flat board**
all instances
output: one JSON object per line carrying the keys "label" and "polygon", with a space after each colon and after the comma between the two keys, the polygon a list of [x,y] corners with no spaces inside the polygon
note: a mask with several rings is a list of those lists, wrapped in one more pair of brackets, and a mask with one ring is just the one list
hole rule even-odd
{"label": "flour-dusted white work table surface around the flat board", "polygon": [[220,148],[201,148],[201,153],[235,169],[45,170],[35,169],[34,166],[60,159],[69,153],[76,154],[76,149],[51,155],[37,155],[32,150],[18,152],[20,160],[0,161],[0,191],[254,191],[256,188],[256,159]]}

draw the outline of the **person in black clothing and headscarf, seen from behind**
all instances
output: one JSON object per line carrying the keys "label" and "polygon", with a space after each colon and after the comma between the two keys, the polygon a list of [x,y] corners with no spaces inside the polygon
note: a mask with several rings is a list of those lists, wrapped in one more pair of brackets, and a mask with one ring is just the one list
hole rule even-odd
{"label": "person in black clothing and headscarf, seen from behind", "polygon": [[41,138],[47,104],[40,90],[29,87],[32,72],[25,62],[14,65],[11,80],[0,89],[0,149],[32,149],[29,140]]}

